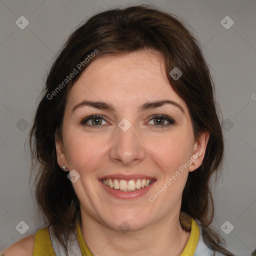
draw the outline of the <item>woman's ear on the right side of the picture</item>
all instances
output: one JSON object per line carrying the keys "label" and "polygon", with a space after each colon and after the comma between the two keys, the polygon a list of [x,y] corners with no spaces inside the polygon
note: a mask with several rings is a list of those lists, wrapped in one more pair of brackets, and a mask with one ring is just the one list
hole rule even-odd
{"label": "woman's ear on the right side of the picture", "polygon": [[[192,163],[190,164],[188,171],[194,171],[201,165],[209,140],[209,135],[209,131],[203,131],[199,134],[199,138],[194,142],[190,156]],[[193,163],[195,166],[193,166]]]}

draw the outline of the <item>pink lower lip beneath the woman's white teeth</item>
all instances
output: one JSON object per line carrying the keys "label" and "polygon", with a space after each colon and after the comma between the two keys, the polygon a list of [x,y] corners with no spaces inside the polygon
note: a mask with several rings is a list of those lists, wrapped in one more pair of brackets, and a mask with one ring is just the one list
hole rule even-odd
{"label": "pink lower lip beneath the woman's white teeth", "polygon": [[156,180],[154,179],[154,180],[152,180],[151,184],[148,185],[148,186],[145,186],[145,187],[140,188],[140,189],[135,189],[134,191],[124,192],[124,191],[121,191],[121,190],[118,190],[118,189],[110,188],[107,185],[104,185],[101,180],[99,180],[99,183],[103,186],[103,188],[106,190],[106,192],[108,192],[110,195],[112,195],[112,196],[114,196],[115,198],[118,198],[118,199],[135,199],[135,198],[138,198],[138,197],[144,195],[146,192],[148,192],[155,182],[156,182]]}

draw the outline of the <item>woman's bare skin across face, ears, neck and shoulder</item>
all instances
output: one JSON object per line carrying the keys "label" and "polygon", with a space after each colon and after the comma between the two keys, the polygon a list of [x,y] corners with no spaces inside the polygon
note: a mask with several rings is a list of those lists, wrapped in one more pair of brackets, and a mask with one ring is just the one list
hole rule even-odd
{"label": "woman's bare skin across face, ears, neck and shoulder", "polygon": [[[138,111],[141,104],[162,99],[175,101],[184,113],[171,104]],[[72,111],[83,100],[104,101],[116,110],[83,106]],[[92,114],[104,118],[98,120],[98,128],[81,124],[84,117]],[[166,126],[157,128],[157,118],[151,119],[154,114],[167,115],[175,123],[166,125],[169,122],[160,119]],[[126,131],[118,126],[123,118],[131,124]],[[93,125],[92,120],[87,124]],[[204,132],[200,139],[194,139],[188,108],[168,83],[159,53],[141,50],[104,56],[90,63],[69,92],[62,139],[56,136],[55,144],[59,166],[64,164],[66,171],[75,169],[80,175],[72,185],[80,201],[82,236],[93,254],[178,256],[182,252],[190,233],[179,223],[181,195],[188,172],[203,160],[208,137]],[[195,166],[184,168],[150,202],[148,197],[198,151]],[[156,182],[139,198],[117,199],[102,188],[99,178],[118,173],[144,174]],[[130,227],[125,233],[119,230],[123,221]],[[10,246],[5,255],[20,255],[13,252],[24,246],[29,251],[26,255],[32,255],[33,236],[24,240]]]}

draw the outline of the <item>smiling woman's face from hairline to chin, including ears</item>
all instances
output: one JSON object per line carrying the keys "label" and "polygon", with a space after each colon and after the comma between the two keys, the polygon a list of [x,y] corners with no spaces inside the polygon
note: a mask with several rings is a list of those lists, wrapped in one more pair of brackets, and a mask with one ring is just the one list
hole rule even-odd
{"label": "smiling woman's face from hairline to chin, including ears", "polygon": [[101,57],[83,71],[69,92],[56,151],[59,166],[79,176],[72,185],[83,216],[138,230],[179,212],[206,144],[206,133],[194,139],[161,56],[143,50]]}

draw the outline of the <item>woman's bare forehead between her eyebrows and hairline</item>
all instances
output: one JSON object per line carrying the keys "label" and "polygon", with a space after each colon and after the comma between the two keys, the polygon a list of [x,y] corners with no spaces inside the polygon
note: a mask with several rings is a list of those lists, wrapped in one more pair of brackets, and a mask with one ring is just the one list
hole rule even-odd
{"label": "woman's bare forehead between her eyebrows and hairline", "polygon": [[171,99],[184,105],[170,86],[160,53],[140,50],[92,61],[73,84],[68,102],[102,100],[131,107],[148,100]]}

